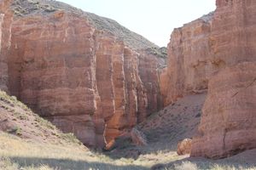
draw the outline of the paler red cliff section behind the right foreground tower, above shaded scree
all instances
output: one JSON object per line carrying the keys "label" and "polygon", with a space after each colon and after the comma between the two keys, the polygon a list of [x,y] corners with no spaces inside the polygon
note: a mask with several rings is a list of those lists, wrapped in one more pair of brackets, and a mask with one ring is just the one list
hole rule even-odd
{"label": "paler red cliff section behind the right foreground tower, above shaded scree", "polygon": [[212,13],[172,32],[166,71],[160,76],[164,105],[191,92],[207,89],[209,77],[218,71],[210,54]]}

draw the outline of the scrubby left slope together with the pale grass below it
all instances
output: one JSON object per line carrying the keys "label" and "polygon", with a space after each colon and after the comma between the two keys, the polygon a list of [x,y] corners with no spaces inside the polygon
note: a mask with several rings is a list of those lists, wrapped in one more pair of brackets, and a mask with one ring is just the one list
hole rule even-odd
{"label": "scrubby left slope together with the pale grass below it", "polygon": [[[6,133],[3,133],[3,132]],[[15,97],[0,90],[0,169],[144,169],[132,159],[90,152]]]}

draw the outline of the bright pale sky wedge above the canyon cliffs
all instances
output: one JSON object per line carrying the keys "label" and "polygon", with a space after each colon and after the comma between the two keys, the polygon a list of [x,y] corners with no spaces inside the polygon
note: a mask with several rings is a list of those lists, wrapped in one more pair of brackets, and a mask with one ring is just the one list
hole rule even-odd
{"label": "bright pale sky wedge above the canyon cliffs", "polygon": [[59,0],[84,11],[111,18],[160,47],[172,30],[208,14],[215,0]]}

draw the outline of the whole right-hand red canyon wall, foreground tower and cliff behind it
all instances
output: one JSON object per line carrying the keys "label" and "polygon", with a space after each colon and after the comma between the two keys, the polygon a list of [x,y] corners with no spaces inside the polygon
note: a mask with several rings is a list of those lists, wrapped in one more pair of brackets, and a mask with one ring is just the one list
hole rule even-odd
{"label": "whole right-hand red canyon wall, foreground tower and cliff behind it", "polygon": [[191,156],[221,158],[256,147],[256,2],[217,9],[172,32],[160,75],[164,105],[208,90]]}

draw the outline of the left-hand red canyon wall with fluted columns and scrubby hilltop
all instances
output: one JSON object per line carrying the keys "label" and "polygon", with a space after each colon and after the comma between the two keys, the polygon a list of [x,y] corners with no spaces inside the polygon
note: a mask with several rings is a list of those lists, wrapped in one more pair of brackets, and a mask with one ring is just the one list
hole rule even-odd
{"label": "left-hand red canyon wall with fluted columns and scrubby hilltop", "polygon": [[[13,3],[9,91],[84,144],[104,146],[161,107],[156,48],[55,1]],[[149,104],[149,105],[148,105]]]}

